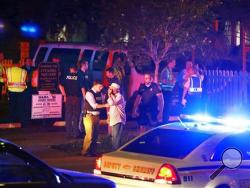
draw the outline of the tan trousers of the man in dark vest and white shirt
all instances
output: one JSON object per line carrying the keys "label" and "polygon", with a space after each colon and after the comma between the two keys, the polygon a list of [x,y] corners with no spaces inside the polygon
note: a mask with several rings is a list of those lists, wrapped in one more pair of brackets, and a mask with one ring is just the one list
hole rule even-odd
{"label": "tan trousers of the man in dark vest and white shirt", "polygon": [[84,137],[81,153],[82,155],[87,153],[95,154],[99,133],[99,115],[86,114],[83,120],[86,135]]}

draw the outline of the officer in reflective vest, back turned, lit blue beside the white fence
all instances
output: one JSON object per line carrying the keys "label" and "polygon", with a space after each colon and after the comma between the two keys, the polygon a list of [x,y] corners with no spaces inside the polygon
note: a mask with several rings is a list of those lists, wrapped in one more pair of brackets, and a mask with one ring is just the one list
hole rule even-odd
{"label": "officer in reflective vest, back turned, lit blue beside the white fence", "polygon": [[201,112],[202,82],[204,76],[199,74],[198,65],[194,68],[194,73],[184,83],[182,105],[184,113],[195,114]]}

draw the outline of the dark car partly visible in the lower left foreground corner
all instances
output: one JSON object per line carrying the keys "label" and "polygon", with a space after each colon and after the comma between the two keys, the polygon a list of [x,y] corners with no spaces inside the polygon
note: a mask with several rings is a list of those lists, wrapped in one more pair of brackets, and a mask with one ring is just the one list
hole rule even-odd
{"label": "dark car partly visible in the lower left foreground corner", "polygon": [[48,166],[21,147],[0,139],[1,187],[114,188],[107,179]]}

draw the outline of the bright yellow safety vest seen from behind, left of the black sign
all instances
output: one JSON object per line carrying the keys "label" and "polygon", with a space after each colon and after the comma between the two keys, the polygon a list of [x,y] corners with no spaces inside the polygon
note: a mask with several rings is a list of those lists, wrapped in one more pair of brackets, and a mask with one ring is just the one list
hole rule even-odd
{"label": "bright yellow safety vest seen from behind, left of the black sign", "polygon": [[23,92],[26,86],[27,71],[19,67],[10,67],[6,70],[7,87],[11,92]]}

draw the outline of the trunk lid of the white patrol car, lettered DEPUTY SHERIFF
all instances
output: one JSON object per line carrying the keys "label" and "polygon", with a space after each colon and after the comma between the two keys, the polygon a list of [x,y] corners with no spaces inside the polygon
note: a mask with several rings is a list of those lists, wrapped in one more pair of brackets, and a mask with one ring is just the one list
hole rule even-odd
{"label": "trunk lid of the white patrol car, lettered DEPUTY SHERIFF", "polygon": [[163,164],[183,167],[180,159],[116,151],[102,157],[102,174],[125,175],[143,179],[155,179]]}

